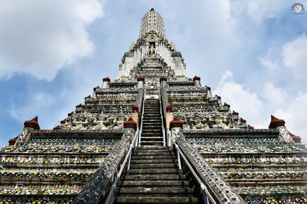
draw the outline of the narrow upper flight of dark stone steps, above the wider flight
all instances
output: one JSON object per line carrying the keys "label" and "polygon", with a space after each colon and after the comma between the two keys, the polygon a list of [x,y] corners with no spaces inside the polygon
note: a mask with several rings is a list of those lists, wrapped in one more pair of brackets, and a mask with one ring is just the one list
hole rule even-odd
{"label": "narrow upper flight of dark stone steps, above the wider flight", "polygon": [[141,146],[162,146],[163,134],[160,105],[157,99],[146,99],[144,104]]}

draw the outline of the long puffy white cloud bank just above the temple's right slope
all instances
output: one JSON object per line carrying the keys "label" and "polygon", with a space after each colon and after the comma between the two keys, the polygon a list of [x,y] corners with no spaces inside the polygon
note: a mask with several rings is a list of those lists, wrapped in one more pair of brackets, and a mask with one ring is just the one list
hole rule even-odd
{"label": "long puffy white cloud bank just above the temple's right slope", "polygon": [[307,92],[298,92],[293,99],[284,89],[266,82],[261,94],[263,98],[260,99],[256,93],[245,90],[243,84],[235,83],[232,76],[231,71],[226,71],[213,95],[221,96],[221,100],[229,104],[231,110],[239,112],[239,117],[247,120],[247,124],[254,128],[268,128],[270,115],[273,114],[285,120],[286,128],[294,135],[301,136],[302,143],[307,143]]}

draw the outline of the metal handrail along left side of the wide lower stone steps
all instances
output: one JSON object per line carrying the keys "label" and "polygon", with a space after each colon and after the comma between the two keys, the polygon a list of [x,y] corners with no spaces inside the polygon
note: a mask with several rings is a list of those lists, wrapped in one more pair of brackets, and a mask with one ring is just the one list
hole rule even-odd
{"label": "metal handrail along left side of the wide lower stone steps", "polygon": [[[122,171],[124,170],[125,166],[126,166],[126,162],[128,161],[128,165],[127,165],[127,170],[129,170],[129,167],[130,167],[130,159],[131,159],[131,153],[132,153],[132,149],[134,148],[134,143],[135,143],[135,140],[136,138],[138,137],[138,127],[137,127],[137,131],[135,132],[135,135],[134,135],[134,138],[133,140],[131,141],[131,144],[130,144],[130,147],[129,147],[129,150],[127,152],[127,155],[122,163],[122,166],[120,167],[120,170],[117,174],[117,177],[113,183],[113,185],[111,186],[111,190],[109,192],[109,195],[107,197],[107,200],[105,202],[105,204],[112,204],[113,203],[113,199],[114,199],[114,193],[115,193],[115,190],[116,190],[116,184],[117,182],[119,181],[119,178],[120,176],[122,175]],[[129,160],[128,160],[129,159]]]}

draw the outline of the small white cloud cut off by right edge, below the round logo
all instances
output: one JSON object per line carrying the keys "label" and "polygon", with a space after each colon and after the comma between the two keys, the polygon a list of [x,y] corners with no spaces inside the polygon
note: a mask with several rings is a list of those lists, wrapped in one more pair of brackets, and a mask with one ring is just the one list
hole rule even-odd
{"label": "small white cloud cut off by right edge, below the round logo", "polygon": [[305,34],[282,46],[284,64],[292,69],[297,79],[306,79],[307,37]]}

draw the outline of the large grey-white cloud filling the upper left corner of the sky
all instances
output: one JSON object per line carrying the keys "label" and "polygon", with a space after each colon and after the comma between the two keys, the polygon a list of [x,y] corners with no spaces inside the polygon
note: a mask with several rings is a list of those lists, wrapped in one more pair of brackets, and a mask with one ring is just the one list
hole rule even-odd
{"label": "large grey-white cloud filling the upper left corner of the sky", "polygon": [[94,51],[86,26],[102,15],[98,0],[2,1],[0,79],[28,73],[52,80]]}

